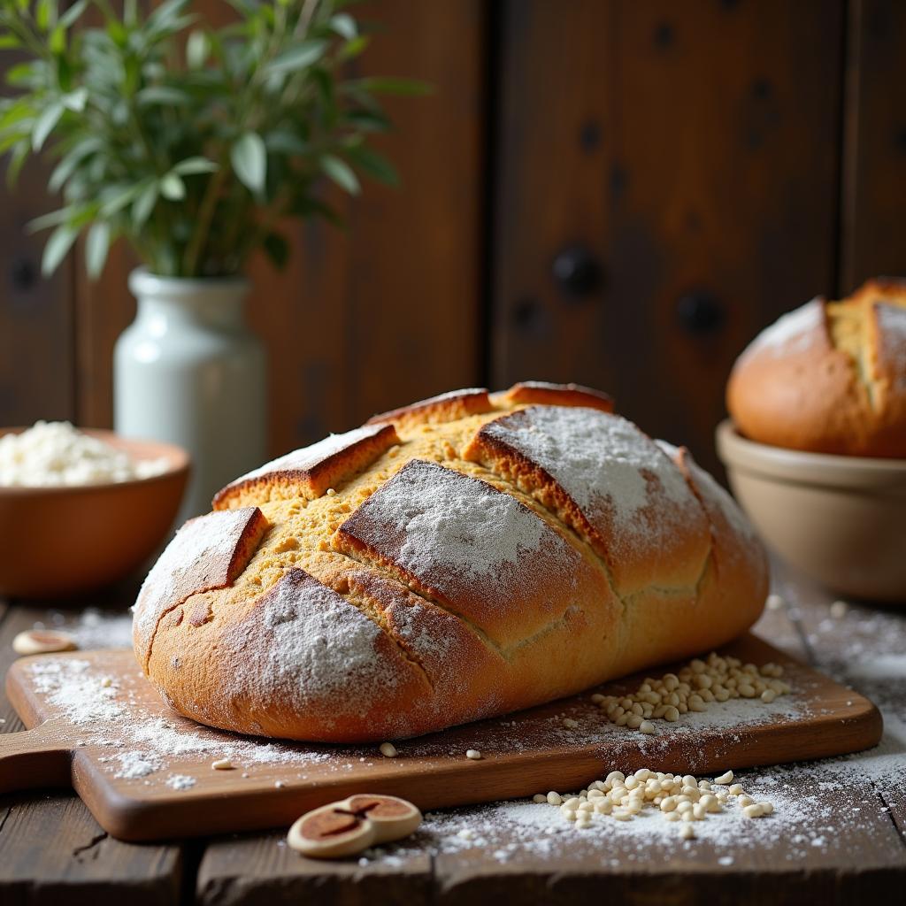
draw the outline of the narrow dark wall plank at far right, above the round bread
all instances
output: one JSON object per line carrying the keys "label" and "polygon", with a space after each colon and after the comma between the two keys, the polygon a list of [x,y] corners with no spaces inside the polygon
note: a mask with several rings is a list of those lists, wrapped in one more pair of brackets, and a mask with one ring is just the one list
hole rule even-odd
{"label": "narrow dark wall plank at far right, above the round bread", "polygon": [[906,5],[853,0],[843,131],[842,294],[868,277],[906,273]]}

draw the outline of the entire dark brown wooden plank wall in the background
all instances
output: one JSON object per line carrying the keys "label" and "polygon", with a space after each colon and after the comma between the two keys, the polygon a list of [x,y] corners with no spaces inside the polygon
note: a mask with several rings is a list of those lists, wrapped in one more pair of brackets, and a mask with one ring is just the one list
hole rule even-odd
{"label": "entire dark brown wooden plank wall in the background", "polygon": [[[220,0],[198,7],[225,14]],[[906,273],[901,0],[371,0],[364,68],[400,190],[255,262],[279,453],[371,412],[519,378],[610,390],[714,465],[746,342],[814,294]],[[118,249],[39,275],[44,173],[0,195],[0,424],[111,419],[134,304]],[[5,191],[5,190],[0,190]]]}

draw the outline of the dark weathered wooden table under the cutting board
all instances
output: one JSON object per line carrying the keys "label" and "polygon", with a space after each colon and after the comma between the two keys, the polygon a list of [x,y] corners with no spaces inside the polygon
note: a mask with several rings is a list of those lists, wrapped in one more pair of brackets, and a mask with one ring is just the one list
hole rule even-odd
{"label": "dark weathered wooden table under the cutting board", "polygon": [[[775,588],[785,604],[766,610],[757,632],[870,696],[883,688],[888,727],[906,727],[906,608],[897,612],[851,605],[834,616],[833,595],[779,564]],[[75,608],[65,609],[63,618],[60,610],[53,608],[57,622],[79,618]],[[0,602],[0,671],[5,673],[14,659],[10,643],[15,633],[52,616],[46,606]],[[878,670],[869,669],[872,664]],[[0,732],[22,728],[2,697],[0,720]],[[906,750],[891,745],[888,737],[874,763],[882,766],[880,773],[877,767],[866,773],[859,763],[853,763],[852,772],[834,773],[829,765],[827,777],[843,779],[828,782],[814,782],[815,776],[823,776],[823,766],[810,766],[807,777],[813,779],[784,786],[787,812],[796,811],[795,796],[801,795],[804,810],[807,806],[809,814],[824,816],[820,835],[791,834],[783,823],[759,824],[755,845],[733,848],[732,841],[718,845],[708,839],[679,844],[665,833],[663,843],[640,849],[619,834],[570,832],[554,835],[544,857],[525,845],[525,827],[510,832],[506,824],[490,844],[451,848],[409,843],[362,862],[306,860],[284,846],[280,832],[133,845],[104,834],[71,793],[11,795],[0,797],[0,902],[499,906],[507,901],[606,899],[830,906],[869,903],[880,896],[901,901],[906,889],[906,785],[897,786],[896,778],[906,777]],[[890,782],[885,782],[885,764],[894,766]],[[745,784],[747,772],[742,773]],[[759,776],[765,773],[762,769]],[[757,782],[754,772],[748,775]],[[787,770],[783,776],[797,775]],[[468,826],[478,814],[473,808],[454,816]],[[771,826],[776,834],[763,833]],[[669,824],[664,828],[674,830]]]}

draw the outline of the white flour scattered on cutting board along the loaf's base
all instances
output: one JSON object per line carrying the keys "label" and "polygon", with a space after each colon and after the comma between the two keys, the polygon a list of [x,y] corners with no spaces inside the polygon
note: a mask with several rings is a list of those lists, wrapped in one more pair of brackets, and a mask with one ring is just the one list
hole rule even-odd
{"label": "white flour scattered on cutting board along the loaf's base", "polygon": [[[146,785],[168,783],[167,772],[181,763],[197,763],[199,757],[228,758],[236,766],[280,764],[299,766],[322,764],[330,769],[348,770],[366,757],[378,757],[377,747],[306,746],[237,737],[196,724],[175,712],[161,716],[142,704],[136,690],[146,680],[136,669],[120,682],[89,660],[78,657],[47,656],[29,668],[35,691],[59,708],[80,728],[79,746],[103,749],[97,760],[121,779]],[[512,753],[539,745],[593,747],[606,737],[612,757],[620,756],[621,744],[628,749],[657,754],[676,752],[689,746],[690,755],[699,747],[704,731],[719,731],[731,746],[733,728],[769,723],[781,718],[804,716],[805,708],[795,696],[778,699],[770,706],[746,699],[735,699],[708,712],[684,716],[684,720],[643,737],[627,728],[613,725],[590,697],[578,699],[547,718],[517,721],[507,718],[482,721],[469,728],[469,746],[486,755]],[[423,737],[399,743],[405,757],[444,757],[449,743],[443,737]],[[463,750],[465,751],[465,749]],[[175,786],[185,789],[187,786]]]}

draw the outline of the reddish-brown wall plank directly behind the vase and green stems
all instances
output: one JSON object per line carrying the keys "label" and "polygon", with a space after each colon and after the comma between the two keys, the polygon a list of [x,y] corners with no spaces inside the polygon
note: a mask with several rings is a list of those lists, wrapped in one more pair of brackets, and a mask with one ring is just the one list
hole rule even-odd
{"label": "reddish-brown wall plank directly behind the vase and green stems", "polygon": [[[198,8],[210,21],[228,15],[216,0]],[[354,201],[329,190],[348,232],[284,224],[288,268],[277,274],[261,257],[249,268],[247,320],[270,357],[275,455],[479,378],[483,5],[371,0],[356,14],[380,25],[361,74],[419,78],[434,91],[388,104],[396,130],[375,147],[400,170],[399,189],[366,181]],[[85,423],[111,419],[113,342],[135,307],[130,266],[118,248],[100,282],[79,277]]]}

